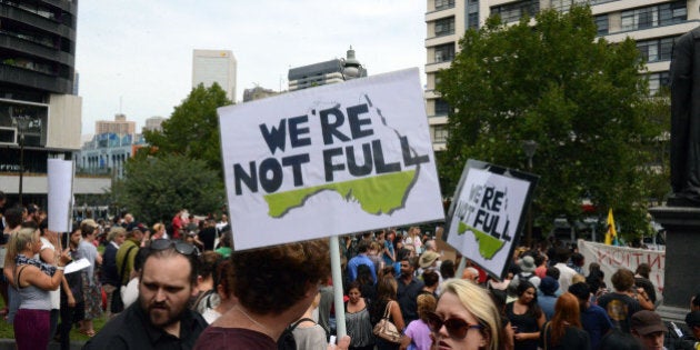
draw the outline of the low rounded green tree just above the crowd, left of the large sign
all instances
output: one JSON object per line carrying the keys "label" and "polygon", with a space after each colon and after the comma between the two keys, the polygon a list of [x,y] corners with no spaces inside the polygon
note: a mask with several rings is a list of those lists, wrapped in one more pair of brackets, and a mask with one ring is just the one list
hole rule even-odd
{"label": "low rounded green tree just above the crowd, left of the large sign", "polygon": [[144,222],[169,222],[182,208],[210,213],[224,202],[219,174],[204,160],[178,154],[128,161],[126,177],[112,192],[119,207]]}

